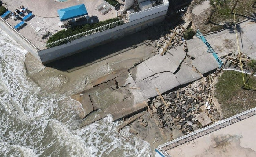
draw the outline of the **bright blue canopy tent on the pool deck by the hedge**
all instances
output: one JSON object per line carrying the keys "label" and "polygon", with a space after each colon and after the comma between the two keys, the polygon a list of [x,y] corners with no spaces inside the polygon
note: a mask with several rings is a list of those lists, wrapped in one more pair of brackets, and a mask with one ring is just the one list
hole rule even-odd
{"label": "bright blue canopy tent on the pool deck by the hedge", "polygon": [[58,14],[60,16],[60,21],[65,21],[79,16],[88,15],[88,12],[84,4],[79,4],[68,8],[59,9]]}

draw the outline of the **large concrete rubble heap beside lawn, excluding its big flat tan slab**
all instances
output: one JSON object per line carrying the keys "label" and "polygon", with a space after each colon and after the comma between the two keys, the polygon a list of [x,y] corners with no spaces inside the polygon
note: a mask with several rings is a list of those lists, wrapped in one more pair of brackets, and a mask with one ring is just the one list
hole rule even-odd
{"label": "large concrete rubble heap beside lawn, excluding its big flat tan slab", "polygon": [[[163,97],[168,107],[165,107],[160,97],[151,100],[153,113],[157,113],[163,126],[168,126],[171,130],[177,127],[183,134],[188,134],[212,121],[218,121],[219,114],[214,108],[212,101],[212,78],[218,71],[208,77],[195,81],[186,87],[177,89]],[[192,86],[194,85],[194,86]],[[210,123],[203,125],[203,121],[198,121],[198,114],[205,112],[210,118]],[[206,120],[206,119],[205,119]]]}

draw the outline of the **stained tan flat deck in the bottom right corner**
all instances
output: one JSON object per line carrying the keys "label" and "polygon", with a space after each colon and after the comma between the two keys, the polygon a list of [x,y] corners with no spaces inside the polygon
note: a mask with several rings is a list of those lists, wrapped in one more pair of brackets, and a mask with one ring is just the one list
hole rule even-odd
{"label": "stained tan flat deck in the bottom right corner", "polygon": [[256,115],[167,150],[171,157],[256,156]]}

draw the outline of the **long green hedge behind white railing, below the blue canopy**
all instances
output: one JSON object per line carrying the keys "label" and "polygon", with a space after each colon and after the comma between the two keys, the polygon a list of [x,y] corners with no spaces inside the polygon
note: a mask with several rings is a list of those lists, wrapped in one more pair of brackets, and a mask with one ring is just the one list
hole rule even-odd
{"label": "long green hedge behind white railing, below the blue canopy", "polygon": [[89,31],[91,29],[95,29],[95,28],[98,28],[100,26],[104,26],[104,25],[107,25],[109,23],[116,22],[116,21],[119,21],[119,20],[120,20],[120,18],[112,18],[112,19],[107,19],[105,21],[101,21],[101,22],[98,22],[98,23],[85,24],[85,25],[82,25],[82,26],[76,26],[76,27],[73,27],[73,28],[68,28],[66,30],[63,29],[61,31],[58,31],[53,36],[51,36],[46,43],[52,43],[52,42],[55,42],[57,40],[64,39],[64,38],[67,38],[69,36],[73,36],[73,35],[76,35],[76,34],[79,34],[79,33],[82,33],[82,32],[86,32],[86,31]]}

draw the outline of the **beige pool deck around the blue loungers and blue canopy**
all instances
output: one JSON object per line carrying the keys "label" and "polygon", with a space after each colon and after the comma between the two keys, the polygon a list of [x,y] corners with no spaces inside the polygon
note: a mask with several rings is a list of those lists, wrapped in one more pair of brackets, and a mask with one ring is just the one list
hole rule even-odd
{"label": "beige pool deck around the blue loungers and blue canopy", "polygon": [[[88,15],[90,17],[97,16],[99,21],[115,18],[116,11],[111,10],[105,15],[98,12],[95,8],[102,3],[101,0],[68,0],[67,2],[55,2],[54,0],[3,0],[5,7],[11,12],[18,9],[20,5],[28,7],[35,16],[28,19],[26,24],[18,30],[18,32],[29,40],[36,47],[46,44],[48,39],[41,39],[45,32],[49,31],[52,34],[62,30],[58,23],[60,22],[58,9],[67,8],[73,5],[85,4]],[[25,13],[27,15],[28,13]],[[10,17],[5,19],[11,26],[17,25],[22,21],[22,17],[13,20]],[[36,31],[40,28],[40,31]]]}

